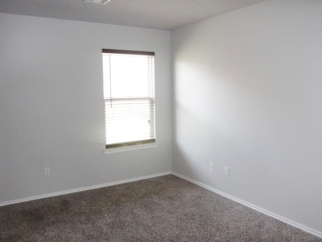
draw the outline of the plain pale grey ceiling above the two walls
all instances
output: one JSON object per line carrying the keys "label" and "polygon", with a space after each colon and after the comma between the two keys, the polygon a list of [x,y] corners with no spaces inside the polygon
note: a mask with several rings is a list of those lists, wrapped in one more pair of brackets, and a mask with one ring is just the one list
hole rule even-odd
{"label": "plain pale grey ceiling above the two walls", "polygon": [[265,0],[0,0],[0,12],[173,30]]}

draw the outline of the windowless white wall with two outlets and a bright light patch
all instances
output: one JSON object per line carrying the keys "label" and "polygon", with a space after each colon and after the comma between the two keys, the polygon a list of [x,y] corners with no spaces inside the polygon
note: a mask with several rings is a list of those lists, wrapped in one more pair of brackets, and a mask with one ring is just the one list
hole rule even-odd
{"label": "windowless white wall with two outlets and a bright light patch", "polygon": [[171,32],[173,171],[320,234],[321,13],[266,1]]}

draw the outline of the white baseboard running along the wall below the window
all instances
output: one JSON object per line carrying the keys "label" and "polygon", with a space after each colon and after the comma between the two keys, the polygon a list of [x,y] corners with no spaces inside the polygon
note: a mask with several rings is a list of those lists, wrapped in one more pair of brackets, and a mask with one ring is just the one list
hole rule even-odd
{"label": "white baseboard running along the wall below the window", "polygon": [[143,180],[143,179],[148,179],[148,178],[153,178],[153,177],[163,176],[163,175],[169,175],[169,174],[171,174],[171,171],[153,174],[153,175],[140,176],[140,177],[126,179],[126,180],[113,181],[112,183],[100,184],[100,185],[95,185],[95,186],[90,186],[90,187],[85,187],[85,188],[77,188],[77,189],[67,190],[67,191],[63,191],[63,192],[50,193],[50,194],[44,194],[44,195],[35,196],[35,197],[17,199],[17,200],[12,200],[12,201],[8,201],[8,202],[0,203],[0,207],[5,206],[5,205],[10,205],[10,204],[15,204],[15,203],[28,202],[28,201],[32,201],[32,200],[41,199],[41,198],[49,198],[49,197],[55,197],[55,196],[64,195],[64,194],[77,193],[77,192],[83,192],[83,191],[97,189],[97,188],[109,187],[109,186],[123,184],[123,183],[131,183],[132,181]]}

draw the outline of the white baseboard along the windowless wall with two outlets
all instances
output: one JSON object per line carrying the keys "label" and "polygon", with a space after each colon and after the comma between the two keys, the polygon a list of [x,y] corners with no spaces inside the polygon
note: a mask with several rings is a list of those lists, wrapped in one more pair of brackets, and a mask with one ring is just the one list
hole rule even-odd
{"label": "white baseboard along the windowless wall with two outlets", "polygon": [[280,221],[282,221],[282,222],[284,222],[284,223],[287,223],[287,224],[289,224],[289,225],[292,225],[292,226],[294,226],[294,227],[297,227],[297,228],[299,228],[299,229],[302,229],[302,230],[304,230],[305,232],[311,233],[311,234],[313,234],[313,235],[315,235],[315,236],[318,236],[318,237],[321,237],[321,238],[322,238],[322,232],[320,232],[320,231],[317,231],[317,230],[312,229],[312,228],[309,228],[309,227],[307,227],[307,226],[305,226],[305,225],[303,225],[303,224],[300,224],[300,223],[294,222],[294,221],[292,221],[292,220],[290,220],[290,219],[287,219],[287,218],[284,218],[284,217],[282,217],[282,216],[279,216],[278,214],[272,213],[272,212],[270,212],[270,211],[268,211],[268,210],[266,210],[266,209],[260,208],[260,207],[258,207],[258,206],[256,206],[256,205],[250,204],[250,203],[245,202],[245,201],[243,201],[243,200],[240,200],[240,199],[238,199],[238,198],[232,197],[232,196],[230,196],[230,195],[228,195],[228,194],[225,194],[225,193],[223,193],[223,192],[221,192],[221,191],[218,191],[218,190],[216,190],[216,189],[214,189],[214,188],[211,188],[211,187],[209,187],[209,186],[207,186],[207,185],[204,185],[204,184],[202,184],[202,183],[199,183],[199,181],[196,181],[196,180],[194,180],[194,179],[191,179],[191,178],[189,178],[189,177],[187,177],[187,176],[184,176],[184,175],[178,174],[178,173],[176,173],[176,172],[171,172],[171,173],[172,173],[173,175],[176,175],[176,176],[180,177],[180,178],[183,178],[183,179],[186,179],[186,180],[188,180],[188,181],[191,181],[192,183],[194,183],[194,184],[196,184],[196,185],[198,185],[198,186],[200,186],[200,187],[203,187],[203,188],[205,188],[205,189],[208,189],[208,190],[210,190],[211,192],[217,193],[217,194],[219,194],[219,195],[221,195],[221,196],[223,196],[223,197],[226,197],[226,198],[228,198],[228,199],[230,199],[230,200],[233,200],[233,201],[235,201],[235,202],[237,202],[237,203],[243,204],[243,205],[245,205],[245,206],[247,206],[247,207],[249,207],[249,208],[255,209],[256,211],[259,211],[259,212],[261,212],[261,213],[264,213],[264,214],[266,214],[266,215],[268,215],[268,216],[270,216],[270,217],[276,218],[276,219],[278,219],[278,220],[280,220]]}

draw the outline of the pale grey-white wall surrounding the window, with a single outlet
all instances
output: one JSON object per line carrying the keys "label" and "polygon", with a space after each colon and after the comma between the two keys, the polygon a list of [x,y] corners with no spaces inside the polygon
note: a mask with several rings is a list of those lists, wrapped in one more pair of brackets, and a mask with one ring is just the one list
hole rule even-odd
{"label": "pale grey-white wall surrounding the window, with a single outlet", "polygon": [[[169,31],[0,14],[0,35],[0,202],[171,171]],[[104,154],[102,48],[155,52],[158,147]]]}

